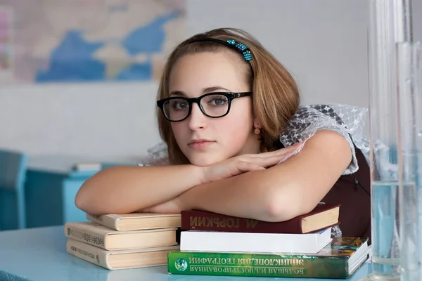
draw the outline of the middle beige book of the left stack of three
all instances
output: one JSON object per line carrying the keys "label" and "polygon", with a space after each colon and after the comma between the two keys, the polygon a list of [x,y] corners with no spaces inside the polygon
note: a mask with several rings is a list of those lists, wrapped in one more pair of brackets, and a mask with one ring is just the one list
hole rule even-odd
{"label": "middle beige book of the left stack of three", "polygon": [[177,228],[117,231],[92,221],[66,223],[65,236],[106,250],[165,247],[177,244]]}

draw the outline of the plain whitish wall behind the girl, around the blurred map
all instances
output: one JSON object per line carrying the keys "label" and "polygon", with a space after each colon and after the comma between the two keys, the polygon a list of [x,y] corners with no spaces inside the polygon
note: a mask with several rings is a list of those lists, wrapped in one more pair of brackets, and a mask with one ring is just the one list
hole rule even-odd
{"label": "plain whitish wall behind the girl, around the blurred map", "polygon": [[[367,107],[367,0],[186,2],[188,35],[215,27],[251,32],[293,72],[303,103]],[[414,25],[422,26],[422,5],[414,9]],[[422,39],[421,31],[415,28],[415,37]],[[160,140],[156,89],[156,83],[2,86],[0,147],[32,159],[134,161]]]}

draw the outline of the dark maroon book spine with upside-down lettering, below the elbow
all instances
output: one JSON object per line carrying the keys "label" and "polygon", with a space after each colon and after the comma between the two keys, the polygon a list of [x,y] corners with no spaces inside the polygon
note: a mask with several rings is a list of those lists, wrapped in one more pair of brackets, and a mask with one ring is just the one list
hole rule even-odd
{"label": "dark maroon book spine with upside-down lettering, below the elbow", "polygon": [[301,219],[293,218],[281,223],[257,221],[251,218],[238,218],[222,214],[182,211],[182,230],[210,230],[236,233],[302,233]]}

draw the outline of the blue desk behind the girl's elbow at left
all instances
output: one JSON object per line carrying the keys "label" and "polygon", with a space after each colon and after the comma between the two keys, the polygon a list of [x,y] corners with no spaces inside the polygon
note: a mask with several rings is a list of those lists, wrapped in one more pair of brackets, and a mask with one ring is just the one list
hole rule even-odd
{"label": "blue desk behind the girl's elbow at left", "polygon": [[75,196],[95,171],[72,171],[77,159],[37,157],[30,160],[25,181],[27,228],[87,221],[85,213],[75,206]]}

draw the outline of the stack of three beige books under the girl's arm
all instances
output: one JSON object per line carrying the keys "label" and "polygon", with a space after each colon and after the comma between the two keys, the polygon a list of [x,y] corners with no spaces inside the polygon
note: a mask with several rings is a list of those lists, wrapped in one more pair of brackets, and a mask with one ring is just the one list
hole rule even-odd
{"label": "stack of three beige books under the girl's arm", "polygon": [[65,224],[69,254],[110,270],[165,266],[179,249],[180,214],[87,214]]}

